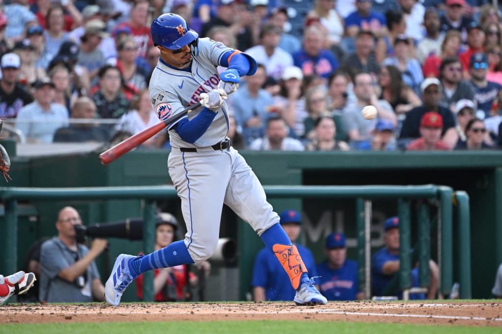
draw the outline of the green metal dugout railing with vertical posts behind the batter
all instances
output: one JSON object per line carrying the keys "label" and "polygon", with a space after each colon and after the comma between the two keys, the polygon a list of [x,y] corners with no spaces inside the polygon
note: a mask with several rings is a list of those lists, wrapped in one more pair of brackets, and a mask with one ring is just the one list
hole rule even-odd
{"label": "green metal dugout railing with vertical posts behind the batter", "polygon": [[[265,186],[271,198],[332,198],[353,199],[356,201],[357,254],[361,291],[369,297],[371,200],[387,199],[398,201],[400,218],[400,271],[399,289],[407,297],[412,286],[411,270],[411,209],[410,201],[424,199],[438,203],[438,264],[440,268],[439,293],[449,295],[453,284],[453,206],[456,206],[458,226],[458,265],[460,297],[471,298],[470,270],[470,211],[469,198],[465,192],[455,192],[444,186]],[[148,187],[95,187],[95,188],[0,188],[0,198],[5,207],[4,226],[0,243],[5,256],[6,273],[17,271],[17,229],[18,201],[32,200],[111,200],[142,199],[143,206],[143,249],[146,253],[154,250],[156,200],[177,198],[171,186]],[[417,210],[418,252],[420,286],[428,285],[430,259],[430,222],[429,207],[423,202]],[[242,234],[242,233],[241,233]],[[239,237],[239,241],[242,236]],[[242,247],[242,243],[241,246]],[[246,266],[245,270],[243,266]],[[240,261],[240,274],[249,272],[250,264]],[[153,301],[153,271],[145,273],[143,300]],[[148,284],[150,282],[150,284]],[[243,287],[241,287],[242,289]]]}

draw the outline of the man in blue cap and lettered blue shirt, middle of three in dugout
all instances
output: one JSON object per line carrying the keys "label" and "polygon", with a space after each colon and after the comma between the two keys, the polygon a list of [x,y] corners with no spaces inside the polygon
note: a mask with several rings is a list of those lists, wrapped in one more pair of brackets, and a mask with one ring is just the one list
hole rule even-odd
{"label": "man in blue cap and lettered blue shirt, middle of three in dugout", "polygon": [[332,233],[326,238],[326,261],[317,265],[319,287],[328,300],[363,299],[359,292],[357,262],[347,260],[347,245],[343,233]]}

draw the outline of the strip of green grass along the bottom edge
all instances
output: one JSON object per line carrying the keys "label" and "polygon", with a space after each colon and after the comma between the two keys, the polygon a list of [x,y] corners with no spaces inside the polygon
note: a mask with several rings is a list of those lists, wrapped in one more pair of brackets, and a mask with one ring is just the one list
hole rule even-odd
{"label": "strip of green grass along the bottom edge", "polygon": [[173,321],[173,322],[101,322],[101,323],[42,323],[2,324],[0,333],[8,334],[78,334],[78,333],[182,333],[182,334],[282,334],[282,333],[333,333],[333,334],[473,334],[497,333],[500,327],[468,327],[445,325],[411,325],[399,323],[362,323],[344,321]]}

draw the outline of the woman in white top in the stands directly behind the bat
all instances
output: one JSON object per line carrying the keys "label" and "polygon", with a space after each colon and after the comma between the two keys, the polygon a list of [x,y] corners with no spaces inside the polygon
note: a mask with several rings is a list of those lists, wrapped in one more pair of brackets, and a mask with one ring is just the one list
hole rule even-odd
{"label": "woman in white top in the stands directly behind the bat", "polygon": [[[148,88],[143,89],[132,103],[133,110],[123,114],[120,121],[115,125],[116,131],[129,132],[136,134],[159,123],[159,118],[150,104]],[[157,135],[145,141],[142,145],[147,147],[161,147],[165,139],[165,132],[159,132]]]}

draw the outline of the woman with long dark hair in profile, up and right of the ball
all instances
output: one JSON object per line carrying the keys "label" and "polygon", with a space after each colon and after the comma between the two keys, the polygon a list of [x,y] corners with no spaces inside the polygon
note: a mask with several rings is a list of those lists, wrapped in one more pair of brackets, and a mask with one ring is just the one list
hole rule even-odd
{"label": "woman with long dark hair in profile, up and right of the ball", "polygon": [[378,76],[382,88],[381,100],[386,100],[398,114],[398,120],[406,117],[406,113],[422,104],[420,98],[404,82],[401,72],[396,66],[382,67]]}

